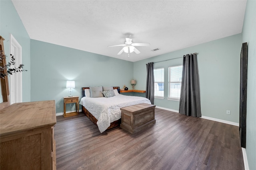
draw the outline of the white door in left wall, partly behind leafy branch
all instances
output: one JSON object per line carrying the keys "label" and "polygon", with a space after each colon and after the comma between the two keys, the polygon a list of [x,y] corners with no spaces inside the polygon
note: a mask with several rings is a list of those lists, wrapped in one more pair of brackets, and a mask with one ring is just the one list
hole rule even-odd
{"label": "white door in left wall, partly behind leafy branch", "polygon": [[[18,68],[22,62],[22,47],[16,39],[10,35],[10,54],[15,58],[15,67]],[[10,56],[11,60],[11,56]],[[11,66],[14,68],[14,66]],[[22,102],[22,72],[16,72],[10,78],[10,104]]]}

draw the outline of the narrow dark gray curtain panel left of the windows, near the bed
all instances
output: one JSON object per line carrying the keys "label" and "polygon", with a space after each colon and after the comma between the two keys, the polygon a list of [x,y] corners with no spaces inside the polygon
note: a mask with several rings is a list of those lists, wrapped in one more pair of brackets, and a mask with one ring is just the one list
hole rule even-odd
{"label": "narrow dark gray curtain panel left of the windows, near the bed", "polygon": [[146,98],[151,104],[154,104],[154,63],[148,63],[147,66],[147,83],[146,83]]}

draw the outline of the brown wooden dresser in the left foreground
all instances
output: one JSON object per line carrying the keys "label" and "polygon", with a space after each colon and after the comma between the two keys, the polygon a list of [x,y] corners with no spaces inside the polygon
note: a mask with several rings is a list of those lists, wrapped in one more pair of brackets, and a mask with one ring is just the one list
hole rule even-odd
{"label": "brown wooden dresser in the left foreground", "polygon": [[55,170],[55,101],[24,102],[0,110],[1,170]]}

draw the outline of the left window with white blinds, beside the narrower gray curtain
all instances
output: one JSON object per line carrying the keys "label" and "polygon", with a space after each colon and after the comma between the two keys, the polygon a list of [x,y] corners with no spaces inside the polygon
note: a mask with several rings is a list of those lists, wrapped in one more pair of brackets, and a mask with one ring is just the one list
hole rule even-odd
{"label": "left window with white blinds, beside the narrower gray curtain", "polygon": [[154,97],[155,98],[164,98],[164,68],[154,69]]}

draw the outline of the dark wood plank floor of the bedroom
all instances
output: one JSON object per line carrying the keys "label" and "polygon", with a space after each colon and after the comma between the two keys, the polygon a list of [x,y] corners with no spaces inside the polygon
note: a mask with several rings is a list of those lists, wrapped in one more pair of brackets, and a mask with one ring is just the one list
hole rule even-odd
{"label": "dark wood plank floor of the bedroom", "polygon": [[133,135],[58,116],[54,138],[57,170],[244,170],[238,127],[158,108],[156,124]]}

